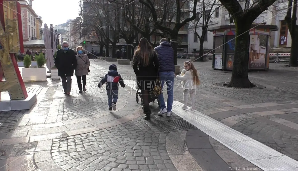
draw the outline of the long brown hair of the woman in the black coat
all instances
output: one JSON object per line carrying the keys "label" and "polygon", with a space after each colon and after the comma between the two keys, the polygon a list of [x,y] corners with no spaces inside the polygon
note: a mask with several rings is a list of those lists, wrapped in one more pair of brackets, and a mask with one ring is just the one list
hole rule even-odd
{"label": "long brown hair of the woman in the black coat", "polygon": [[148,66],[149,58],[152,55],[153,55],[152,46],[150,45],[150,43],[146,38],[141,38],[138,48],[136,49],[136,51],[134,51],[134,56],[138,58],[139,61],[142,60],[144,66]]}

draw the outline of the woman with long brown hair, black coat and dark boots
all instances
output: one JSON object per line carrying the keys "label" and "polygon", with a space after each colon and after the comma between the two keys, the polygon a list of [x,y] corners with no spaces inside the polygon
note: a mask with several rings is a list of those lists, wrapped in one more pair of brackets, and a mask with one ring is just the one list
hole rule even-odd
{"label": "woman with long brown hair, black coat and dark boots", "polygon": [[147,121],[151,120],[149,93],[155,85],[158,68],[159,63],[155,51],[146,38],[141,38],[134,52],[133,69],[136,74],[136,86],[142,93],[143,111],[146,115],[144,119]]}

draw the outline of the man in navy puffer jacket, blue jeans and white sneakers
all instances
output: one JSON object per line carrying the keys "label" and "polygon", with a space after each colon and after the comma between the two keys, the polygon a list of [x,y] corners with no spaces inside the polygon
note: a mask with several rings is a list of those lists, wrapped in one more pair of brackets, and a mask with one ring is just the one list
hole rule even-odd
{"label": "man in navy puffer jacket, blue jeans and white sneakers", "polygon": [[162,88],[164,83],[167,84],[167,108],[164,103],[163,94],[158,96],[160,102],[160,111],[157,113],[159,115],[167,113],[167,116],[171,116],[171,110],[173,105],[173,88],[175,79],[175,65],[174,65],[174,50],[171,43],[168,42],[167,38],[160,39],[159,46],[154,48],[158,56],[159,61],[159,78],[162,82]]}

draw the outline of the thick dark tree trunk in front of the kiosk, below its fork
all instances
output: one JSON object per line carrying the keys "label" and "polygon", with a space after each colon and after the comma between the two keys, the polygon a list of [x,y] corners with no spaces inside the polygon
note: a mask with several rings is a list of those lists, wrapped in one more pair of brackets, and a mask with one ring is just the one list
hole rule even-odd
{"label": "thick dark tree trunk in front of the kiosk, below its fork", "polygon": [[244,18],[235,21],[236,38],[232,78],[229,87],[250,88],[255,87],[248,79],[249,59],[249,32],[251,23],[246,23]]}

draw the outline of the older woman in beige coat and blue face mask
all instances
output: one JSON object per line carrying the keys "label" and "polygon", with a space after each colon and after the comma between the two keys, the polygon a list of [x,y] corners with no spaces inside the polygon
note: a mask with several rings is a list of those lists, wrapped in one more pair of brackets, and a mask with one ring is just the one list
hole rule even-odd
{"label": "older woman in beige coat and blue face mask", "polygon": [[[77,68],[75,69],[75,76],[77,76],[77,86],[79,87],[79,93],[86,91],[86,75],[88,75],[90,61],[86,54],[83,54],[83,47],[77,47]],[[83,87],[82,87],[83,80]]]}

